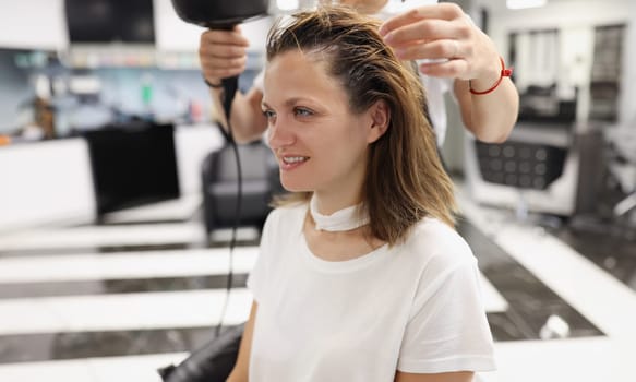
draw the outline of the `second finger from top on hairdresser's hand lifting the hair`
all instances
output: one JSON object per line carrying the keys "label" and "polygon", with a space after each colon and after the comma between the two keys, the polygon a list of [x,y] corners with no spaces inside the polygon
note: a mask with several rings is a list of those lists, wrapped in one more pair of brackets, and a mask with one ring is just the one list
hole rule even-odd
{"label": "second finger from top on hairdresser's hand lifting the hair", "polygon": [[445,20],[423,20],[394,29],[384,37],[384,41],[397,48],[420,41],[430,41],[442,38],[461,38],[465,31],[461,25]]}

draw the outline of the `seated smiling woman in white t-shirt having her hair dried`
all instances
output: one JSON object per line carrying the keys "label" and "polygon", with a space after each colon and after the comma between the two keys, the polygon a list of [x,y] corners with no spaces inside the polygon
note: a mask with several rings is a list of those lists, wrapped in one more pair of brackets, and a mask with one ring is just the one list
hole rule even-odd
{"label": "seated smiling woman in white t-shirt having her hair dried", "polygon": [[268,216],[228,381],[470,381],[493,368],[476,259],[423,89],[343,8],[272,29],[263,112],[292,192]]}

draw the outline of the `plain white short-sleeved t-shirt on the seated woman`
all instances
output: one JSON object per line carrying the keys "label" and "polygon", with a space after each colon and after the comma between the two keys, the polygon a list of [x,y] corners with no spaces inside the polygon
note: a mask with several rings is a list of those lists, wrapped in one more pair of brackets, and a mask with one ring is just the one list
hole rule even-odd
{"label": "plain white short-sleeved t-shirt on the seated woman", "polygon": [[477,261],[455,230],[425,218],[403,244],[328,262],[307,246],[307,211],[279,207],[263,229],[248,280],[259,303],[251,382],[494,369]]}

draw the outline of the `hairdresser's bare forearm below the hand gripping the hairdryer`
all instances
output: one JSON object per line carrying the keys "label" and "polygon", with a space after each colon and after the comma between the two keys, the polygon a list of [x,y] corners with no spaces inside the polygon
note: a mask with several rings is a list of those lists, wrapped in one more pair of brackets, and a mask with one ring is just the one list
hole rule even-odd
{"label": "hairdresser's bare forearm below the hand gripping the hairdryer", "polygon": [[[227,119],[223,106],[223,88],[209,88],[213,106],[218,114],[218,121],[228,131]],[[231,128],[232,136],[238,143],[248,143],[261,138],[267,128],[267,120],[261,111],[260,91],[252,89],[243,95],[237,92],[232,100]]]}

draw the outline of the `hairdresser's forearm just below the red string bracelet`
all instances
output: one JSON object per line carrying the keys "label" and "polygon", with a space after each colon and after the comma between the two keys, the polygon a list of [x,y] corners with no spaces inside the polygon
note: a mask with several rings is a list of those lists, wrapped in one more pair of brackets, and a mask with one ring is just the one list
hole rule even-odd
{"label": "hairdresser's forearm just below the red string bracelet", "polygon": [[[488,88],[492,84],[484,85],[472,81],[472,86]],[[464,124],[476,139],[501,143],[508,138],[519,111],[517,88],[508,77],[504,77],[492,93],[483,95],[471,94],[468,81],[456,80],[455,95]]]}

